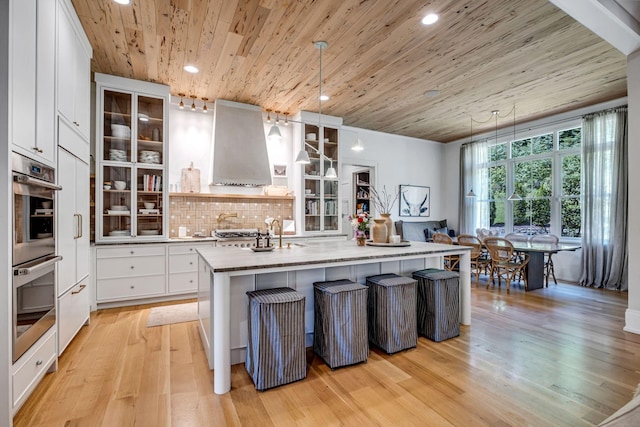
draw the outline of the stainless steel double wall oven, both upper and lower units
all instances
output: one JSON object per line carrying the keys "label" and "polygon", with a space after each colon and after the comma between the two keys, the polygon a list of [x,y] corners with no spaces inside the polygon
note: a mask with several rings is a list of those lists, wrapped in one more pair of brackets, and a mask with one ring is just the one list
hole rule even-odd
{"label": "stainless steel double wall oven, both upper and lower units", "polygon": [[13,361],[55,324],[55,171],[20,154],[13,172]]}

